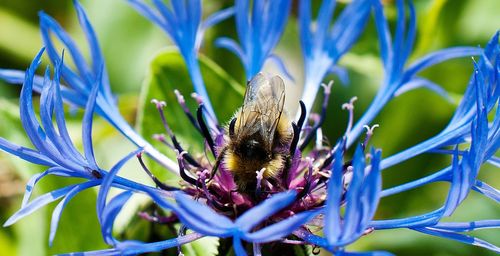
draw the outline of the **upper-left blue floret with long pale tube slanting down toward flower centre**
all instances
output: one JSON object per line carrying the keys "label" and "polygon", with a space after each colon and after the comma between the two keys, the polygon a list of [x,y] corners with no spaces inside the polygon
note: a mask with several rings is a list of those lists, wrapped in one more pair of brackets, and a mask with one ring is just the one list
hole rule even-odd
{"label": "upper-left blue floret with long pale tube slanting down toward flower centre", "polygon": [[[142,138],[120,114],[118,106],[116,105],[116,99],[112,95],[110,89],[104,57],[102,56],[94,29],[80,3],[78,1],[73,1],[73,4],[80,26],[89,44],[92,55],[92,67],[89,67],[81,50],[79,50],[73,39],[64,31],[57,21],[44,12],[39,13],[42,39],[50,61],[54,66],[59,64],[62,65],[60,76],[66,83],[65,86],[61,87],[61,96],[63,100],[71,106],[83,108],[89,100],[89,95],[94,85],[98,86],[99,93],[97,94],[95,112],[113,125],[135,145],[144,147],[148,155],[156,159],[159,164],[175,172],[177,168],[175,163],[151,146],[146,139]],[[59,39],[67,52],[69,52],[75,63],[76,70],[73,70],[62,62],[59,51],[52,41],[51,33],[55,34],[56,38]],[[24,77],[24,71],[0,69],[0,79],[11,84],[23,84]],[[33,90],[40,93],[43,88],[43,81],[44,79],[42,77],[35,75],[33,77]]]}

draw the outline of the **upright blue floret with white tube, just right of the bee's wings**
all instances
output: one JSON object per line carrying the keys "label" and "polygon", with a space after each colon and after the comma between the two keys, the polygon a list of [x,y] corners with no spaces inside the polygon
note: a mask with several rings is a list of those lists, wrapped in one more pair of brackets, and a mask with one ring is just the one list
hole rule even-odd
{"label": "upright blue floret with white tube, just right of the bee's wings", "polygon": [[370,15],[369,2],[353,1],[338,17],[335,24],[330,26],[337,1],[323,1],[316,20],[316,29],[313,32],[311,30],[313,25],[311,1],[300,1],[300,42],[304,55],[305,75],[302,100],[308,111],[312,109],[318,89],[328,73],[340,74],[341,79],[347,82],[345,71],[335,65],[363,32]]}

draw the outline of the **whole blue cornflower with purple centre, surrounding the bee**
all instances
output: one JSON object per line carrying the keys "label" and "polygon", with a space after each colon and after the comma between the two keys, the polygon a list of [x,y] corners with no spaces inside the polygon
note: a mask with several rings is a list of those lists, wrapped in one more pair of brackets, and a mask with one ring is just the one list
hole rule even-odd
{"label": "whole blue cornflower with purple centre, surrounding the bee", "polygon": [[[80,191],[99,186],[97,217],[101,225],[101,235],[112,248],[86,252],[87,254],[140,254],[171,247],[179,248],[182,244],[201,237],[215,236],[221,239],[221,243],[230,241],[237,255],[246,255],[249,251],[254,255],[262,255],[266,250],[278,253],[272,251],[274,245],[289,244],[321,247],[336,255],[356,255],[358,253],[346,251],[346,246],[377,230],[398,228],[500,252],[496,245],[463,234],[477,229],[498,228],[499,220],[443,222],[443,218],[451,216],[471,190],[478,191],[496,203],[499,202],[498,190],[478,180],[479,169],[483,163],[498,165],[500,162],[494,156],[500,141],[498,32],[484,49],[445,49],[406,65],[416,34],[416,15],[411,2],[409,25],[406,28],[405,3],[403,0],[397,1],[398,19],[392,41],[382,5],[377,0],[353,1],[332,26],[330,23],[336,2],[326,0],[321,4],[314,29],[310,17],[311,3],[309,0],[301,1],[299,23],[305,60],[305,88],[299,103],[300,111],[295,120],[292,119],[286,124],[289,125],[290,140],[286,140],[286,143],[280,141],[281,144],[276,143],[277,146],[272,145],[273,150],[277,149],[271,153],[282,156],[280,159],[283,160],[283,165],[275,174],[265,175],[265,167],[261,168],[253,162],[244,163],[255,166],[255,182],[249,182],[248,187],[243,188],[235,178],[235,170],[231,169],[225,158],[236,118],[239,116],[235,116],[226,128],[219,126],[197,60],[205,29],[232,15],[233,9],[218,12],[201,22],[202,5],[197,0],[172,1],[170,5],[153,0],[156,10],[140,0],[129,0],[129,3],[160,26],[179,48],[198,96],[195,97],[199,105],[196,118],[185,105],[182,95],[176,92],[178,101],[186,114],[186,121],[190,121],[203,136],[205,149],[211,154],[188,152],[181,146],[175,135],[176,131],[169,126],[172,120],[167,120],[164,114],[166,103],[161,100],[153,100],[152,103],[159,112],[159,121],[163,124],[168,139],[163,135],[158,135],[157,139],[172,148],[177,158],[165,160],[165,156],[155,153],[158,151],[132,131],[120,116],[109,90],[104,59],[93,29],[85,12],[75,1],[80,24],[91,46],[92,66],[84,60],[69,35],[52,18],[41,13],[44,44],[55,66],[54,79],[50,79],[49,69],[44,78],[35,76],[35,70],[44,52],[42,49],[25,74],[20,96],[21,122],[35,149],[18,146],[2,138],[0,149],[32,163],[48,166],[49,169],[28,181],[21,209],[7,220],[5,225],[11,225],[36,209],[64,197],[53,212],[49,238],[51,243],[66,203]],[[276,12],[277,8],[284,11]],[[218,43],[237,53],[249,78],[255,75],[253,79],[266,85],[276,85],[281,81],[279,77],[269,77],[260,71],[263,63],[273,56],[271,52],[281,37],[289,8],[290,1],[257,0],[253,2],[249,19],[248,2],[236,2],[234,10],[241,47],[227,38],[219,39]],[[370,10],[374,13],[385,77],[372,105],[360,120],[354,122],[356,97],[343,105],[349,113],[346,131],[336,144],[327,146],[323,143],[322,124],[328,118],[326,111],[332,82],[322,82],[327,73],[339,70],[335,67],[337,61],[363,33]],[[63,63],[63,57],[55,50],[50,31],[68,48],[76,71]],[[443,131],[386,158],[382,157],[380,149],[372,147],[368,151],[370,138],[374,136],[374,129],[378,124],[368,125],[391,99],[418,87],[426,87],[447,97],[446,92],[438,85],[418,77],[420,71],[451,58],[471,55],[479,55],[479,61],[474,63],[474,73],[464,98]],[[0,76],[13,83],[19,83],[21,80],[21,73],[13,70],[0,70]],[[67,86],[60,86],[60,77],[66,81]],[[321,112],[317,114],[312,112],[312,105],[320,86],[323,87],[324,93]],[[33,109],[33,90],[41,93],[41,124]],[[83,155],[75,148],[65,128],[63,100],[85,106],[82,120]],[[492,114],[492,121],[489,121],[488,115],[495,108],[496,113]],[[94,109],[126,138],[146,147],[139,147],[109,171],[101,169],[95,161],[92,145]],[[53,117],[56,119],[57,129],[52,122]],[[366,129],[366,136],[357,143],[363,129]],[[357,145],[353,157],[350,158],[348,152],[354,144]],[[142,151],[163,163],[167,169],[178,171],[182,179],[180,186],[166,184],[156,178],[144,163]],[[451,164],[418,180],[382,189],[382,171],[424,153],[448,154]],[[134,155],[156,187],[118,176],[121,166]],[[29,201],[35,184],[48,174],[79,177],[84,181]],[[377,219],[375,212],[382,197],[438,181],[451,183],[443,206],[425,214],[401,219]],[[107,201],[111,187],[122,192]],[[146,195],[164,210],[164,213],[141,213],[144,221],[166,226],[180,224],[182,228],[178,236],[156,242],[120,240],[114,237],[112,231],[115,219],[134,194]],[[369,254],[390,255],[389,252],[383,251]]]}

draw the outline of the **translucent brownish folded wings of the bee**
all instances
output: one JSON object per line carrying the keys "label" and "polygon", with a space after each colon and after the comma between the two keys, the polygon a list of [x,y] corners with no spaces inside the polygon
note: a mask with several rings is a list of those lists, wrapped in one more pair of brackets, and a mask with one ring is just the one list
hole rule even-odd
{"label": "translucent brownish folded wings of the bee", "polygon": [[237,134],[261,136],[272,145],[274,132],[285,104],[285,84],[279,76],[268,78],[257,74],[247,85],[245,99],[238,117]]}

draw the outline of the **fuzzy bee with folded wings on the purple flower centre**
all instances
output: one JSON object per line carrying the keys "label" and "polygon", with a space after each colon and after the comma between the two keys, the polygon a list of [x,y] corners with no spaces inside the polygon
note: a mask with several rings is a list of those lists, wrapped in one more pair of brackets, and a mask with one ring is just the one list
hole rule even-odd
{"label": "fuzzy bee with folded wings on the purple flower centre", "polygon": [[279,76],[257,74],[247,84],[242,107],[226,127],[222,162],[241,192],[255,188],[256,171],[276,179],[289,161],[292,123],[283,110],[285,84]]}

